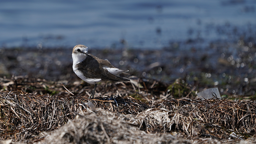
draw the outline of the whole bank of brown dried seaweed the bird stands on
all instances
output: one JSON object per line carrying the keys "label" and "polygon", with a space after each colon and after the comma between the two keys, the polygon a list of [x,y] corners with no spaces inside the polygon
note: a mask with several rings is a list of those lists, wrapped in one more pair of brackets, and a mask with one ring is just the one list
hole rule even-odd
{"label": "whole bank of brown dried seaweed the bird stands on", "polygon": [[96,93],[101,97],[88,100],[92,86],[80,83],[66,85],[76,95],[72,96],[60,82],[2,79],[0,139],[13,143],[255,141],[255,100],[199,100],[193,88],[178,81],[175,84],[185,88],[179,94],[188,98],[173,98],[175,89],[168,84],[136,81],[139,84],[102,83]]}

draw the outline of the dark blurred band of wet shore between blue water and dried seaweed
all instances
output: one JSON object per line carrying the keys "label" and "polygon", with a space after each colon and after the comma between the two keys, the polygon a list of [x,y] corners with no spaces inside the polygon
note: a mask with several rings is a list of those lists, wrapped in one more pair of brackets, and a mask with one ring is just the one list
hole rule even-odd
{"label": "dark blurred band of wet shore between blue water and dried seaweed", "polygon": [[[239,45],[240,41],[240,45]],[[199,91],[218,87],[221,95],[254,96],[256,49],[253,43],[216,42],[198,48],[193,44],[172,44],[161,50],[89,49],[89,53],[107,59],[116,68],[127,69],[137,77],[182,83]],[[184,47],[190,47],[184,50]],[[204,51],[207,49],[207,51]],[[72,70],[72,48],[0,49],[0,75],[28,76],[51,81],[76,81]]]}

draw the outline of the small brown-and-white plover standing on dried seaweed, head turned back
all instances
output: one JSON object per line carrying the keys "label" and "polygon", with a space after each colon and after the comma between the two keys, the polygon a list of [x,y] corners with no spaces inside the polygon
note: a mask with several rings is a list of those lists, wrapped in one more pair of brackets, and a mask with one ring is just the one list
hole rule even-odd
{"label": "small brown-and-white plover standing on dried seaweed, head turned back", "polygon": [[[78,77],[89,84],[94,84],[94,89],[89,97],[93,99],[97,82],[102,81],[130,81],[128,78],[120,77],[119,74],[127,74],[128,70],[115,68],[108,60],[102,60],[88,53],[85,45],[78,44],[72,52],[73,70]],[[129,74],[127,74],[129,75]]]}

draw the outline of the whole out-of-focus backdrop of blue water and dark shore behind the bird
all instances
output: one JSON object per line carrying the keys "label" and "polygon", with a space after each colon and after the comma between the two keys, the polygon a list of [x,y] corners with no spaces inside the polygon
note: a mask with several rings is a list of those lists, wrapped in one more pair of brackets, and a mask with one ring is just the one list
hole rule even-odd
{"label": "whole out-of-focus backdrop of blue water and dark shore behind the bird", "polygon": [[256,91],[255,0],[9,0],[0,4],[0,75],[74,81],[72,48],[133,76]]}

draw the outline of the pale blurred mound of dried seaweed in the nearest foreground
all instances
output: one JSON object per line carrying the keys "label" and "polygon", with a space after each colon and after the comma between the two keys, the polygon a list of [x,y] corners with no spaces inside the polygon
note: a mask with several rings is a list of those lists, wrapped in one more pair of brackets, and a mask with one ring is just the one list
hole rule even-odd
{"label": "pale blurred mound of dried seaweed in the nearest foreground", "polygon": [[[68,122],[40,143],[170,143],[171,134],[146,134],[133,124],[124,121],[126,115],[103,109],[85,111],[79,118]],[[59,135],[61,133],[61,135]],[[176,142],[178,140],[175,140]],[[186,141],[186,140],[183,140]]]}

